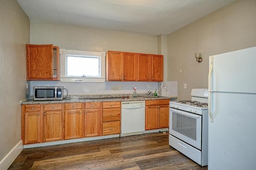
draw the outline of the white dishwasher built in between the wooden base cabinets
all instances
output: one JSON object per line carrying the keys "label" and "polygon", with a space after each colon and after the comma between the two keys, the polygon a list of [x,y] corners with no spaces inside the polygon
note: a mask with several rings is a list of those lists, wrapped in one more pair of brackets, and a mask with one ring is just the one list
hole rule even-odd
{"label": "white dishwasher built in between the wooden base cabinets", "polygon": [[140,135],[145,131],[145,101],[121,102],[120,137]]}

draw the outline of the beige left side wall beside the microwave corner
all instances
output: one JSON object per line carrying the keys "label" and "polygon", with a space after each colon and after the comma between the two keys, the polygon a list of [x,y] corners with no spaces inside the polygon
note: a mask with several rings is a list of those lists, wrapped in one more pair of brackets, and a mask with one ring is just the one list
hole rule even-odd
{"label": "beige left side wall beside the microwave corner", "polygon": [[[16,0],[0,0],[0,161],[21,140],[30,21]],[[2,166],[0,166],[0,169]]]}

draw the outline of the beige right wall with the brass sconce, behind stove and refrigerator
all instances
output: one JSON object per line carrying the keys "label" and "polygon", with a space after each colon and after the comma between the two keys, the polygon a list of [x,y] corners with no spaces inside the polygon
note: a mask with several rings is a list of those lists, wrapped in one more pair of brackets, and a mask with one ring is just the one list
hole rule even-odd
{"label": "beige right wall with the brass sconce, behind stove and refrigerator", "polygon": [[168,81],[178,81],[178,99],[189,100],[192,88],[208,88],[209,56],[253,46],[256,0],[240,0],[168,35]]}

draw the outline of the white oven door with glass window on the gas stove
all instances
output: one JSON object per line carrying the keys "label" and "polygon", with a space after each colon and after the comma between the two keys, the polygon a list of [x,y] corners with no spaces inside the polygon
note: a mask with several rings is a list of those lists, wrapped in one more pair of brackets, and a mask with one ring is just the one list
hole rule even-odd
{"label": "white oven door with glass window on the gas stove", "polygon": [[202,115],[170,108],[169,133],[201,150]]}

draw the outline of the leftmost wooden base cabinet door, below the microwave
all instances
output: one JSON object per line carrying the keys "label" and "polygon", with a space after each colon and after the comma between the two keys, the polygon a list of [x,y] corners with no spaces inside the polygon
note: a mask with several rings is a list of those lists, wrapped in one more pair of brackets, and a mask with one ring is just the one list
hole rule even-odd
{"label": "leftmost wooden base cabinet door, below the microwave", "polygon": [[24,144],[41,143],[42,114],[40,112],[25,113]]}

